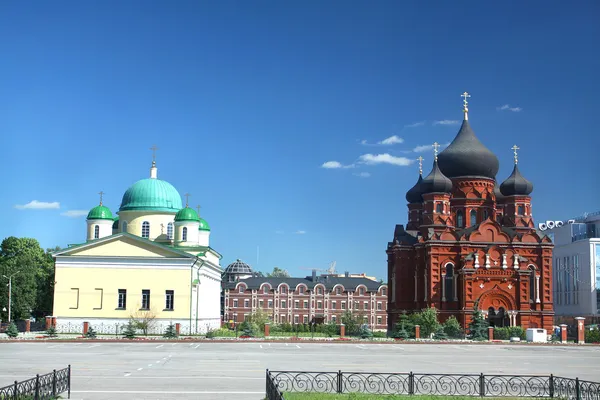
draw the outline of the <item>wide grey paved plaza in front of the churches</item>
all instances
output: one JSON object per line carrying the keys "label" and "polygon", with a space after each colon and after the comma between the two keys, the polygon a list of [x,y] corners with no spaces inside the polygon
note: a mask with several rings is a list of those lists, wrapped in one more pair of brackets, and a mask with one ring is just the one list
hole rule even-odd
{"label": "wide grey paved plaza in front of the churches", "polygon": [[264,398],[265,369],[550,374],[600,381],[598,346],[0,343],[0,387],[71,364],[72,399]]}

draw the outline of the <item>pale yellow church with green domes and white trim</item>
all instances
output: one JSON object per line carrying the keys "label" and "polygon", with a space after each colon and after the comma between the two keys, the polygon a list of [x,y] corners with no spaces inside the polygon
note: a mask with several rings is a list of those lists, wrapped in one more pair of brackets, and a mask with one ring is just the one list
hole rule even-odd
{"label": "pale yellow church with green domes and white trim", "polygon": [[156,161],[117,214],[101,198],[88,213],[86,242],[53,254],[57,331],[82,332],[88,322],[113,334],[130,319],[155,334],[177,323],[181,334],[218,328],[221,255],[210,247],[208,223],[158,179]]}

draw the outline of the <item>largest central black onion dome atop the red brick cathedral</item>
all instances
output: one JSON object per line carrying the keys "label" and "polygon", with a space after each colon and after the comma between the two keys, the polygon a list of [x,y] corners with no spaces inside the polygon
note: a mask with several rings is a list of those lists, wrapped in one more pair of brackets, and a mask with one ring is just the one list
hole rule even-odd
{"label": "largest central black onion dome atop the red brick cathedral", "polygon": [[498,157],[475,136],[468,120],[458,134],[438,156],[440,169],[448,178],[463,176],[494,179],[500,166]]}

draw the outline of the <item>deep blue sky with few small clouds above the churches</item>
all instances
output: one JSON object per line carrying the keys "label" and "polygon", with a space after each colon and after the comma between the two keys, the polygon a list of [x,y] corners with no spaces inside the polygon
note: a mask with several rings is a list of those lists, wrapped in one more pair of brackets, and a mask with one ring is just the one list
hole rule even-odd
{"label": "deep blue sky with few small clouds above the churches", "polygon": [[[414,160],[431,167],[413,150],[453,139],[465,90],[500,180],[521,148],[536,222],[596,211],[599,15],[594,1],[4,2],[0,237],[83,241],[84,217],[64,214],[100,190],[116,211],[156,144],[159,178],[202,205],[224,265],[336,260],[385,279]],[[59,208],[16,208],[34,200]]]}

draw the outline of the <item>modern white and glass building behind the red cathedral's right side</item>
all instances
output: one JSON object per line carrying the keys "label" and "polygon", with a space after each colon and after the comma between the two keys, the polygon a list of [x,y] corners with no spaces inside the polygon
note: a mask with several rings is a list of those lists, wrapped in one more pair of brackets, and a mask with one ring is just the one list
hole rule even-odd
{"label": "modern white and glass building behind the red cathedral's right side", "polygon": [[600,314],[600,212],[539,228],[554,237],[556,315]]}

